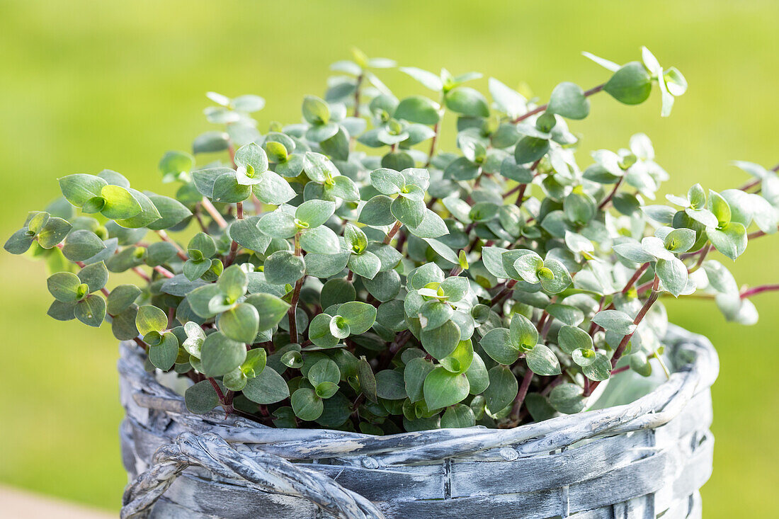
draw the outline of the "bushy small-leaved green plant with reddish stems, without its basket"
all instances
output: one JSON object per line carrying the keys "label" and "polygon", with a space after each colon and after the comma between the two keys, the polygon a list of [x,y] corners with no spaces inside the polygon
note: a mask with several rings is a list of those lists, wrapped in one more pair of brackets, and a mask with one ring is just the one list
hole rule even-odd
{"label": "bushy small-leaved green plant with reddish stems, without its basket", "polygon": [[[647,136],[579,151],[590,96],[658,87],[665,116],[686,90],[646,48],[585,55],[605,83],[546,103],[412,67],[425,95],[396,97],[376,76],[395,62],[360,51],[291,125],[263,131],[262,97],[209,93],[218,129],[160,161],[174,196],[67,175],[5,249],[45,260],[49,316],[108,322],[147,369],[191,380],[193,413],[388,434],[583,411],[610,377],[667,369],[663,298],[756,321],[749,296],[777,285],[740,291],[721,262],[779,208],[776,168],[738,162],[739,189],[661,199]],[[444,122],[456,142],[439,146]]]}

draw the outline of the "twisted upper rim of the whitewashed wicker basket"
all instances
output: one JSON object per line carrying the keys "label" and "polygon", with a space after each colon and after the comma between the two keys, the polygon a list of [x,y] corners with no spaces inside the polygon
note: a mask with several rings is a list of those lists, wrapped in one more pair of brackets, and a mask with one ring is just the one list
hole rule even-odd
{"label": "twisted upper rim of the whitewashed wicker basket", "polygon": [[273,449],[287,459],[359,455],[373,458],[364,459],[363,464],[407,464],[509,446],[513,452],[506,455],[511,457],[548,453],[580,440],[664,425],[679,415],[693,396],[707,390],[719,370],[717,353],[707,337],[669,324],[664,342],[674,348],[676,355],[689,355],[691,360],[680,365],[659,387],[629,404],[561,415],[513,429],[429,429],[387,436],[275,428],[248,418],[225,418],[218,411],[194,415],[186,409],[181,395],[143,369],[143,351],[132,341],[121,343],[118,371],[132,387],[131,397],[137,407],[164,411],[192,433],[217,433],[231,443],[273,444]]}

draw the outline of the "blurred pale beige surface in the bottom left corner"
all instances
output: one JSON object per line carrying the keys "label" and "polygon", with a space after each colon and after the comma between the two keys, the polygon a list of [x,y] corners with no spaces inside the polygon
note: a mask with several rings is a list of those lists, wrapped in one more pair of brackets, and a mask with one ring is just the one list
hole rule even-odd
{"label": "blurred pale beige surface in the bottom left corner", "polygon": [[3,519],[112,519],[116,514],[0,485]]}

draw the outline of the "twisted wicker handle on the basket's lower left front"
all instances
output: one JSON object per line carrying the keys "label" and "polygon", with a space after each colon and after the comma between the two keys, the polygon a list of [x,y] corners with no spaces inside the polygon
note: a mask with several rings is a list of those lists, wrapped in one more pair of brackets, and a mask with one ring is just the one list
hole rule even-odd
{"label": "twisted wicker handle on the basket's lower left front", "polygon": [[252,489],[301,497],[343,519],[384,519],[373,503],[326,475],[273,454],[246,457],[214,433],[182,433],[175,443],[159,447],[153,465],[127,485],[120,517],[145,517],[187,467],[203,467],[223,478],[245,480]]}

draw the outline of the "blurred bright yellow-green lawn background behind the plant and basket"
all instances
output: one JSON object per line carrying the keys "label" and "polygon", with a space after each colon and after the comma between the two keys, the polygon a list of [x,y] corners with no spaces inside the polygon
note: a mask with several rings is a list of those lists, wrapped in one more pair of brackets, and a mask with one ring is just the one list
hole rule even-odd
{"label": "blurred bright yellow-green lawn background behind the plant and basket", "polygon": [[[166,192],[157,161],[209,129],[206,90],[260,94],[259,121],[297,122],[303,94],[323,94],[328,64],[351,46],[424,69],[471,69],[542,99],[556,83],[587,88],[608,72],[580,51],[616,62],[647,45],[689,81],[670,118],[656,93],[640,107],[592,98],[572,122],[587,152],[654,142],[671,173],[664,192],[694,182],[746,181],[734,159],[779,161],[779,2],[0,2],[0,235],[58,195],[55,178],[103,168]],[[396,94],[425,94],[400,72]],[[486,91],[486,79],[479,82]],[[446,139],[446,137],[449,139]],[[444,136],[451,147],[452,132]],[[166,186],[169,187],[169,186]],[[169,194],[169,193],[167,193]],[[777,283],[779,240],[750,243],[739,283]],[[730,263],[723,257],[717,259]],[[108,327],[58,323],[46,309],[44,266],[0,253],[5,331],[0,359],[0,482],[118,510],[116,341]],[[714,476],[704,517],[766,517],[779,510],[779,391],[771,366],[779,295],[755,298],[756,327],[725,323],[707,301],[669,304],[671,319],[707,334],[721,355],[714,387]]]}

